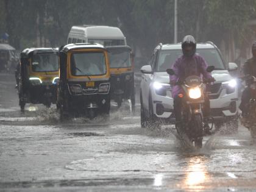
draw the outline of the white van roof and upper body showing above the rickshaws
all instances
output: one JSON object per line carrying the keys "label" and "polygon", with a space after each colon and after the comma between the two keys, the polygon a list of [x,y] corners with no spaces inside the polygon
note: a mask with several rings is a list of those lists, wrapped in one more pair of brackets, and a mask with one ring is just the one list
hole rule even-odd
{"label": "white van roof and upper body showing above the rickshaws", "polygon": [[118,27],[73,26],[68,34],[69,43],[99,43],[104,46],[127,45],[126,37]]}

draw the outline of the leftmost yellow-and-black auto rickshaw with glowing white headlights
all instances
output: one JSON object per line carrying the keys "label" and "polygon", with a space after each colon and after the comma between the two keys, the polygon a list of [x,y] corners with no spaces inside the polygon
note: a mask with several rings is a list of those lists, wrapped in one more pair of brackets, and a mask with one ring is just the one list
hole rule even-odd
{"label": "leftmost yellow-and-black auto rickshaw with glowing white headlights", "polygon": [[26,103],[50,107],[57,99],[59,63],[57,49],[28,48],[20,54],[18,94],[21,111]]}

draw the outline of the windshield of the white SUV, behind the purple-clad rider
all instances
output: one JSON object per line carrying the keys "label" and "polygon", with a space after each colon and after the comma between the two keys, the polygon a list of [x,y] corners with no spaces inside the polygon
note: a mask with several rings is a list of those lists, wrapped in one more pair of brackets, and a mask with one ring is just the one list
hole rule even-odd
{"label": "windshield of the white SUV, behind the purple-clad rider", "polygon": [[[208,66],[213,65],[217,70],[225,69],[224,63],[222,62],[219,52],[216,49],[196,49],[196,53],[204,58]],[[161,50],[158,55],[155,71],[165,72],[166,69],[172,67],[172,65],[181,55],[182,50],[180,49]]]}

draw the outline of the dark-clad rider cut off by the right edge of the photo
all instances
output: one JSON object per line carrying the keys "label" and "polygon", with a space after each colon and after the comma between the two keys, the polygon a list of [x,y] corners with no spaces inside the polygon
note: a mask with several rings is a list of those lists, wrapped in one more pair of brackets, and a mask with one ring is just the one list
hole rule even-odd
{"label": "dark-clad rider cut off by the right edge of the photo", "polygon": [[[249,80],[252,80],[251,76],[256,77],[256,41],[252,44],[252,58],[248,59],[243,65],[243,73],[244,76],[248,76],[246,78],[246,84]],[[252,98],[251,89],[246,87],[242,93],[241,104],[239,106],[242,111],[242,123],[246,121],[248,115],[248,107],[250,99]]]}

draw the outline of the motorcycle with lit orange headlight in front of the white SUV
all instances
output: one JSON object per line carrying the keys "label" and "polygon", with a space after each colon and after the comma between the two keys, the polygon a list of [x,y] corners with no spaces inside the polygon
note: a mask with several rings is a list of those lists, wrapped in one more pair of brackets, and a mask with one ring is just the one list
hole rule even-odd
{"label": "motorcycle with lit orange headlight in front of the white SUV", "polygon": [[[215,69],[214,66],[208,66],[207,72],[210,73]],[[172,69],[167,69],[166,72],[173,76],[175,75]],[[204,135],[204,116],[202,108],[204,106],[204,84],[211,83],[212,81],[202,80],[199,76],[189,76],[184,81],[177,82],[185,94],[179,94],[182,98],[182,126],[177,126],[176,130],[178,135],[188,140],[196,148],[202,148],[202,139]]]}

